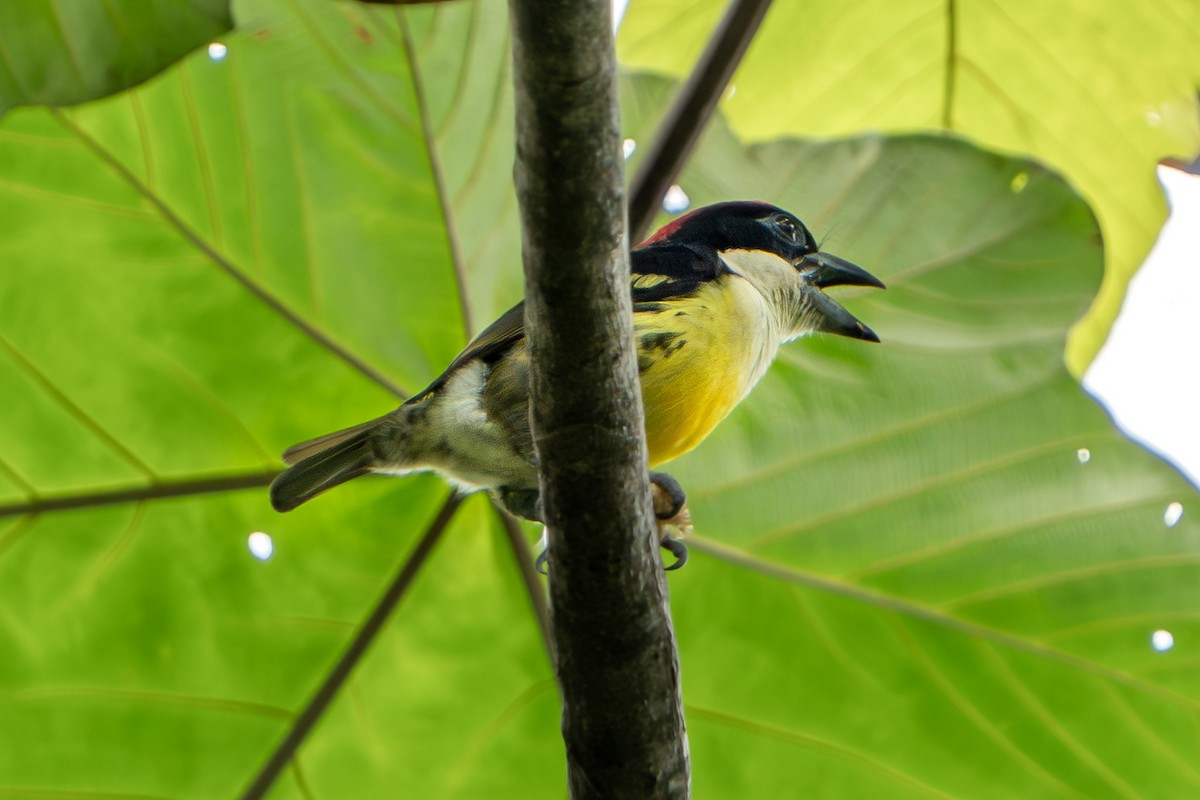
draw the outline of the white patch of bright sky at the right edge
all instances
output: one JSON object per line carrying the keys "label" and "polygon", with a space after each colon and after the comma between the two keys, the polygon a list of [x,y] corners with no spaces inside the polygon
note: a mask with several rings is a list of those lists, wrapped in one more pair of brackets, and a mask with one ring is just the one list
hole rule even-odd
{"label": "white patch of bright sky at the right edge", "polygon": [[1130,437],[1200,486],[1200,176],[1159,168],[1171,216],[1129,282],[1084,387]]}

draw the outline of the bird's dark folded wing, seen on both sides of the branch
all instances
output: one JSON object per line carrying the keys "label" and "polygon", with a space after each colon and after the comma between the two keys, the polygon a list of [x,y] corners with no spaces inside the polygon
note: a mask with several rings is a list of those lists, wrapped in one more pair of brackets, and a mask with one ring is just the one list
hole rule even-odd
{"label": "bird's dark folded wing, seen on both sides of the branch", "polygon": [[[704,281],[712,281],[728,267],[712,251],[686,245],[662,243],[640,247],[630,253],[630,291],[635,303],[653,303],[686,296]],[[524,301],[509,308],[499,319],[472,339],[450,366],[420,393],[408,399],[415,403],[440,389],[463,365],[482,359],[496,361],[524,338]]]}

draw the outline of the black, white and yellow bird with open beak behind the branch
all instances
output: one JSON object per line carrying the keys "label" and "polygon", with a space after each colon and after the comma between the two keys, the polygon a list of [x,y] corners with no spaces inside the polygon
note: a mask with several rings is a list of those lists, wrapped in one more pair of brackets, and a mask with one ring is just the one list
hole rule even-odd
{"label": "black, white and yellow bird with open beak behind the branch", "polygon": [[[632,248],[648,467],[696,447],[784,343],[810,333],[878,342],[824,293],[839,285],[884,288],[863,267],[822,251],[794,215],[757,200],[696,209]],[[400,408],[288,449],[289,467],[270,486],[271,505],[290,511],[370,473],[434,471],[462,491],[487,489],[512,515],[540,522],[524,324],[520,302]],[[652,471],[650,480],[661,543],[676,555],[667,569],[674,569],[686,561],[686,547],[668,531],[672,522],[688,521],[685,495],[670,475]]]}

